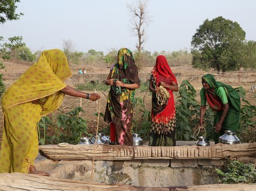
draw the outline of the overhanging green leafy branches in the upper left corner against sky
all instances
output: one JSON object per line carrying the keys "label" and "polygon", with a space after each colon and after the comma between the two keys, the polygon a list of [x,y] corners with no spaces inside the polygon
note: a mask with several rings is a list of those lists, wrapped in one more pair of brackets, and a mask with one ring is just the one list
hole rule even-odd
{"label": "overhanging green leafy branches in the upper left corner against sky", "polygon": [[[4,24],[7,20],[19,20],[22,13],[16,14],[16,3],[20,0],[1,0],[0,1],[0,23]],[[1,41],[5,40],[3,36],[0,36],[0,53],[7,52],[9,49],[23,46],[21,36],[9,37],[5,43]]]}

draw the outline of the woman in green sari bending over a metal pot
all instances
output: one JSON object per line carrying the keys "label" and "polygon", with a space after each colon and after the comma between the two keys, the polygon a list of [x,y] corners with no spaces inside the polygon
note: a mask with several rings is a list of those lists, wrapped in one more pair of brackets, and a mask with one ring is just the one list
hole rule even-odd
{"label": "woman in green sari bending over a metal pot", "polygon": [[219,143],[219,136],[223,135],[225,130],[237,131],[240,121],[240,96],[234,88],[216,81],[211,74],[202,77],[202,84],[200,126],[203,126],[207,101],[209,106],[216,111],[214,140],[215,143]]}

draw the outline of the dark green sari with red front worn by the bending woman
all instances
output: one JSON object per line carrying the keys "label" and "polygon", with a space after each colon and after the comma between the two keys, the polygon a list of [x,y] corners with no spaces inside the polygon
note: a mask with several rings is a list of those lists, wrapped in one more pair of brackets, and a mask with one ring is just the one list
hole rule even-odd
{"label": "dark green sari with red front worn by the bending woman", "polygon": [[[225,117],[221,130],[219,133],[214,133],[215,143],[219,142],[219,136],[222,136],[225,133],[225,130],[232,130],[234,132],[237,131],[239,122],[240,122],[240,96],[237,91],[229,85],[218,82],[215,80],[214,76],[211,74],[206,74],[202,77],[202,80],[209,84],[210,88],[214,89],[214,93],[216,89],[222,87],[225,90],[227,101],[229,105],[229,109],[227,112],[227,116]],[[204,94],[200,93],[201,99],[203,99],[202,95],[205,95],[207,102],[210,107],[216,111],[216,115],[214,117],[214,126],[219,122],[219,119],[223,112],[222,102],[218,98],[217,95],[212,94],[210,91],[201,89],[201,92],[204,91]],[[216,98],[216,99],[215,99]]]}

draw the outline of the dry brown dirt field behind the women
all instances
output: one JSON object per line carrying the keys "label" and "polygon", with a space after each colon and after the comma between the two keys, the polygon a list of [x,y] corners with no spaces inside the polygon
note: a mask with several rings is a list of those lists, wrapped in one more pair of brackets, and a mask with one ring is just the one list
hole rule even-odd
{"label": "dry brown dirt field behind the women", "polygon": [[[29,67],[28,63],[19,63],[19,62],[11,62],[11,61],[6,61],[4,62],[4,65],[6,66],[5,69],[7,70],[26,70]],[[90,67],[83,67],[83,66],[73,66],[71,65],[71,69],[73,73],[77,72],[77,68],[86,68],[87,72],[90,73],[109,73],[110,68],[108,67],[95,67],[95,66],[90,66]],[[140,72],[143,73],[150,73],[153,67],[144,67],[141,69]],[[191,66],[178,66],[178,67],[172,67],[172,71],[174,73],[181,73],[182,77],[178,79],[178,83],[180,84],[183,79],[190,79],[191,76],[193,75],[202,75],[206,74],[207,72],[198,70],[195,68],[192,68]],[[188,77],[189,76],[189,77]],[[249,93],[249,88],[250,86],[255,82],[236,82],[236,83],[230,83],[226,82],[227,84],[237,87],[237,86],[243,86],[244,89],[247,92],[247,100],[251,102],[251,104],[256,105],[256,93]],[[199,102],[200,97],[199,97],[199,90],[202,87],[201,84],[201,79],[195,79],[191,81],[191,84],[194,86],[194,88],[197,90],[197,101]],[[92,93],[92,91],[88,91],[89,93]],[[97,127],[97,117],[95,116],[95,113],[100,110],[100,112],[104,113],[105,107],[106,107],[106,95],[108,92],[98,92],[102,98],[101,100],[97,102],[92,102],[88,101],[86,99],[80,99],[72,96],[66,96],[63,104],[60,107],[60,110],[63,112],[70,111],[71,109],[80,106],[80,102],[82,105],[82,108],[85,110],[84,113],[81,114],[81,116],[88,121],[88,132],[90,133],[95,133],[96,127]],[[140,92],[140,90],[137,91],[137,96],[143,97],[144,102],[146,105],[147,109],[151,108],[151,96],[148,92]],[[177,94],[175,94],[175,99],[176,99]],[[99,106],[100,105],[100,106]],[[51,115],[57,115],[59,111],[54,112]],[[134,117],[137,117],[136,110],[134,109]],[[140,117],[140,116],[139,116]],[[2,110],[0,110],[0,123],[2,123]],[[100,122],[99,122],[99,129],[101,130],[104,127],[107,127],[108,124],[103,121],[103,118],[100,117]],[[2,134],[2,127],[0,127],[0,141],[1,141],[1,134]]]}

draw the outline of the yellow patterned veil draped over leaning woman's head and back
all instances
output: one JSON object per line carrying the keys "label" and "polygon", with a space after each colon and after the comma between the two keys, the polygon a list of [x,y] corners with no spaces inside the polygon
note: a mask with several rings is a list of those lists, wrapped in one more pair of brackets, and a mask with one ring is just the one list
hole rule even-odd
{"label": "yellow patterned veil draped over leaning woman's head and back", "polygon": [[59,49],[45,50],[36,63],[5,92],[3,111],[17,104],[46,97],[41,116],[59,108],[66,87],[64,81],[72,76],[65,54]]}

